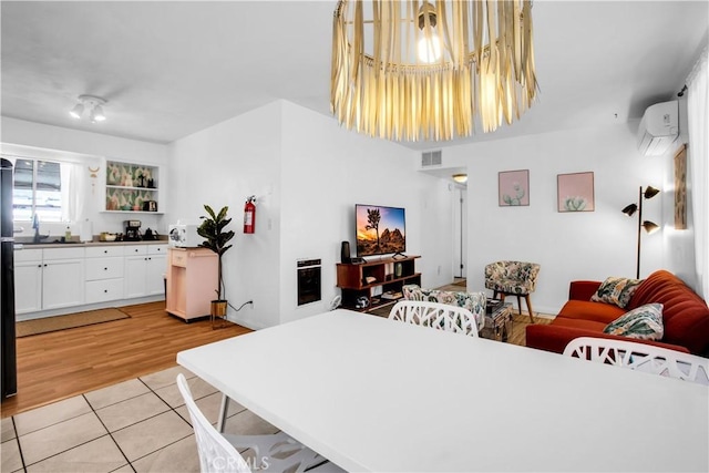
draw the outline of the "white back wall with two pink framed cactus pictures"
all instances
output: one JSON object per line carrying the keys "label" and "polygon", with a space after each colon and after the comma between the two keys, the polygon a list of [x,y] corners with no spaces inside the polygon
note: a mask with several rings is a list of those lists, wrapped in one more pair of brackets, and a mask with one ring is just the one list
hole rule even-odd
{"label": "white back wall with two pink framed cactus pictures", "polygon": [[[483,268],[500,259],[542,265],[535,311],[556,313],[575,279],[635,277],[637,214],[620,209],[637,203],[639,186],[661,188],[667,160],[640,156],[638,122],[462,145],[443,151],[443,164],[467,166],[469,289],[484,287]],[[497,205],[497,173],[530,169],[530,206]],[[595,212],[558,213],[557,174],[593,172]],[[664,193],[644,203],[644,219],[665,226]],[[640,277],[668,267],[661,234],[643,235]]]}

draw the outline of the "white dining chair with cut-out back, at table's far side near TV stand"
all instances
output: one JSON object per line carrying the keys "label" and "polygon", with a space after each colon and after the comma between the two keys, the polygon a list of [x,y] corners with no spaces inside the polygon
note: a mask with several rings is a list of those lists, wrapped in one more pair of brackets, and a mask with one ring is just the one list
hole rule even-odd
{"label": "white dining chair with cut-out back, at table's far side near TV stand", "polygon": [[389,319],[470,337],[477,337],[479,330],[470,310],[428,300],[400,300],[389,311]]}

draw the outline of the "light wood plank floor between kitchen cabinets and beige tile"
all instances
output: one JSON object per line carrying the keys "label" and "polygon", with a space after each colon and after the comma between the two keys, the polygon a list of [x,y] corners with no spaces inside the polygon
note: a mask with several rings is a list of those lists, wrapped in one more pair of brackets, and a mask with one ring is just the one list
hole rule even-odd
{"label": "light wood plank floor between kitchen cabinets and beige tile", "polygon": [[1,417],[173,367],[178,351],[250,331],[186,323],[164,301],[121,310],[131,318],[19,338],[18,394],[2,401]]}

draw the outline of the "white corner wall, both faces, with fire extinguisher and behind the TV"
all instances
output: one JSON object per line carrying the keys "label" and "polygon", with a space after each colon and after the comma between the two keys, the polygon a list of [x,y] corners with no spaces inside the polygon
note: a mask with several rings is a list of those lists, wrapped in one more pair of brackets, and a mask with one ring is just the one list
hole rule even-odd
{"label": "white corner wall, both faces, with fire extinguisher and behind the TV", "polygon": [[[340,128],[336,121],[279,101],[171,146],[168,218],[196,218],[201,205],[229,205],[235,248],[225,255],[229,319],[261,328],[327,310],[338,294],[342,240],[354,239],[357,203],[407,209],[408,254],[422,284],[450,282],[448,185],[418,173],[417,154]],[[244,235],[244,200],[257,195],[256,233]],[[443,243],[443,244],[442,244]],[[297,306],[299,258],[322,260],[322,300]],[[440,274],[439,274],[440,268]]]}

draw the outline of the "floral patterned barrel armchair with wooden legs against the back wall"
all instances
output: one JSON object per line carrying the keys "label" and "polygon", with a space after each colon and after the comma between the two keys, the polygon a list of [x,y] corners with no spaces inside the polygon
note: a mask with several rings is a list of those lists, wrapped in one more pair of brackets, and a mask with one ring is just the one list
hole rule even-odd
{"label": "floral patterned barrel armchair with wooden legs against the back wall", "polygon": [[534,322],[530,294],[536,289],[536,277],[540,265],[525,261],[495,261],[485,266],[485,287],[492,289],[493,298],[497,295],[517,297],[517,311],[522,313],[521,298],[527,302],[530,319]]}

